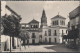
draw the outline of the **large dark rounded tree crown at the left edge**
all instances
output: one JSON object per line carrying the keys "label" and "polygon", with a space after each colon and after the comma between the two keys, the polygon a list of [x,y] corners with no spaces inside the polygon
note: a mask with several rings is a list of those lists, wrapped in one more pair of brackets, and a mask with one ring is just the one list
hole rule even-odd
{"label": "large dark rounded tree crown at the left edge", "polygon": [[20,33],[20,20],[14,15],[4,15],[2,17],[2,25],[4,27],[3,34],[18,36]]}

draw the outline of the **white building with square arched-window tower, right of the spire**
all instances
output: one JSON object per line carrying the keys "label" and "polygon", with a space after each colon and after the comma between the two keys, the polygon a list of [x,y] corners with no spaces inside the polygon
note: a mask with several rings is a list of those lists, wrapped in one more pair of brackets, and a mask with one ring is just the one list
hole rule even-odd
{"label": "white building with square arched-window tower, right of the spire", "polygon": [[47,43],[62,43],[63,35],[67,35],[65,18],[56,15],[51,18],[51,26],[44,26],[42,30],[43,41],[47,41]]}

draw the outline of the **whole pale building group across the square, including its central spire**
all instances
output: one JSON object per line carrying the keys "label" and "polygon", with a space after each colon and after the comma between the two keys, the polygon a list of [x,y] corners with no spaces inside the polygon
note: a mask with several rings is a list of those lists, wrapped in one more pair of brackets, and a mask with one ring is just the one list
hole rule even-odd
{"label": "whole pale building group across the square, including its central spire", "polygon": [[[65,20],[66,18],[60,15],[56,15],[55,17],[51,18],[51,26],[48,26],[46,13],[45,10],[43,10],[41,16],[40,28],[39,28],[39,22],[33,19],[31,22],[27,24],[28,27],[24,26],[22,27],[22,29],[26,27],[26,30],[30,33],[31,37],[29,39],[30,44],[62,43],[64,41],[63,35],[67,35],[67,26],[65,25]],[[33,36],[35,36],[35,38],[33,38]]]}

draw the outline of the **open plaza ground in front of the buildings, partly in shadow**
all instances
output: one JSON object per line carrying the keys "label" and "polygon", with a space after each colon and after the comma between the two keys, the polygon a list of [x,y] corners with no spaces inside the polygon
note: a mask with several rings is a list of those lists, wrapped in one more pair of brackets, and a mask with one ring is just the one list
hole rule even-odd
{"label": "open plaza ground in front of the buildings, partly in shadow", "polygon": [[69,49],[62,44],[57,44],[57,45],[30,45],[29,47],[22,46],[21,50],[19,48],[13,49],[12,52],[78,52],[78,51],[75,49]]}

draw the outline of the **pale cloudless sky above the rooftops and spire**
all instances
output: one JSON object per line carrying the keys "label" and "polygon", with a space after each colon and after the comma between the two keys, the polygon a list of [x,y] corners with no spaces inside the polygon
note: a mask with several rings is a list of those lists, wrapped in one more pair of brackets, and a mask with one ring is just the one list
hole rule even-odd
{"label": "pale cloudless sky above the rooftops and spire", "polygon": [[51,18],[58,13],[66,18],[67,24],[69,13],[79,6],[79,1],[7,1],[6,4],[21,15],[21,23],[28,23],[32,19],[41,22],[44,9],[49,26],[51,25]]}

